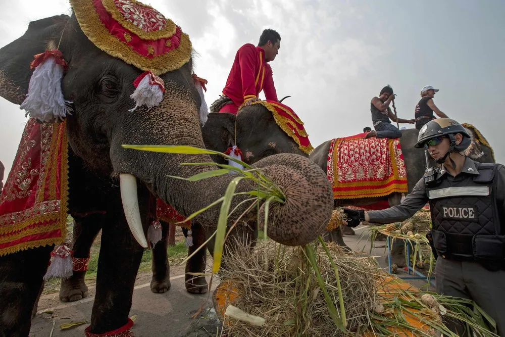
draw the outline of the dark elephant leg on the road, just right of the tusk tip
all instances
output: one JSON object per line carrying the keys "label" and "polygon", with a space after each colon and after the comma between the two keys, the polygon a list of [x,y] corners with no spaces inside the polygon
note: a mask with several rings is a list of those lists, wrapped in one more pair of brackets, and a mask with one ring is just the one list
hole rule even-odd
{"label": "dark elephant leg on the road, just right of the tusk tip", "polygon": [[170,224],[160,221],[162,226],[162,238],[153,248],[153,278],[151,278],[151,292],[162,294],[170,289],[170,265],[167,256],[167,243]]}

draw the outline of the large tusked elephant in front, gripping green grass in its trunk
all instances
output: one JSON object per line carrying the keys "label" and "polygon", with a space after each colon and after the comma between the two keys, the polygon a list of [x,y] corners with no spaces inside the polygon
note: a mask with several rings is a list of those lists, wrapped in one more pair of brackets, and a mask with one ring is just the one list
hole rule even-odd
{"label": "large tusked elephant in front, gripping green grass in its trunk", "polygon": [[[136,151],[122,146],[204,148],[198,119],[201,99],[192,79],[191,58],[160,75],[165,92],[157,106],[131,109],[132,83],[142,70],[100,50],[81,29],[75,12],[74,8],[71,16],[33,21],[20,38],[0,49],[0,96],[21,105],[29,89],[33,55],[58,45],[68,65],[61,90],[72,108],[72,114],[65,117],[68,212],[82,225],[102,228],[96,295],[87,328],[89,333],[100,334],[130,324],[135,276],[147,246],[150,201],[161,198],[188,216],[223,196],[235,176],[226,174],[198,182],[176,179],[173,176],[187,178],[211,170],[208,166],[180,165],[207,163],[210,156]],[[253,167],[282,186],[286,195],[283,204],[270,205],[271,238],[282,244],[303,245],[323,232],[332,211],[331,186],[316,164],[299,155],[277,154]],[[238,183],[237,192],[249,190],[256,190],[250,181]],[[243,195],[234,197],[232,209],[245,199]],[[242,203],[228,225],[247,207]],[[219,209],[214,206],[195,220],[213,232]],[[125,213],[133,214],[128,216],[129,221]],[[244,220],[255,219],[254,213]],[[32,309],[53,249],[54,245],[40,246],[0,257],[3,335],[28,335]]]}

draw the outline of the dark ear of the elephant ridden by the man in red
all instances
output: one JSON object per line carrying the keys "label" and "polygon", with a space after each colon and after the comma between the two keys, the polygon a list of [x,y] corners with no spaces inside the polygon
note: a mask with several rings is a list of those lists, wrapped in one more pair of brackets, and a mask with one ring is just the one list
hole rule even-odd
{"label": "dark ear of the elephant ridden by the man in red", "polygon": [[[205,147],[209,150],[225,152],[235,143],[235,115],[222,112],[211,112],[201,134],[204,137]],[[224,161],[222,157],[213,158],[217,162]]]}

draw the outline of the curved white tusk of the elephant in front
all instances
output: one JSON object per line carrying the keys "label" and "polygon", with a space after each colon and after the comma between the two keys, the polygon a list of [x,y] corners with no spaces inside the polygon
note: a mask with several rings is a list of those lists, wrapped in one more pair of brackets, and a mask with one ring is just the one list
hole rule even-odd
{"label": "curved white tusk of the elephant in front", "polygon": [[128,227],[130,227],[131,233],[138,244],[143,248],[147,248],[147,240],[145,239],[138,209],[137,178],[131,174],[122,173],[119,175],[119,182],[121,185],[121,201],[123,202]]}

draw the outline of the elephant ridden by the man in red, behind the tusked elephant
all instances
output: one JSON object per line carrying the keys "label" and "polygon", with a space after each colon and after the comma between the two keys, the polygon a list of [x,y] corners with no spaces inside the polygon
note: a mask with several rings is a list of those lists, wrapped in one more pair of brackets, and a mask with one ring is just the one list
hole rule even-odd
{"label": "elephant ridden by the man in red, behind the tusked elephant", "polygon": [[[260,132],[258,132],[261,130]],[[206,149],[224,153],[228,148],[237,145],[243,150],[243,161],[249,165],[271,155],[280,153],[292,153],[309,157],[299,150],[297,143],[289,137],[275,122],[272,113],[262,105],[253,105],[243,109],[239,114],[210,113],[207,122],[201,128]],[[236,135],[236,139],[235,139]],[[227,162],[223,157],[211,155],[212,159],[220,164]],[[91,216],[92,217],[92,216]],[[89,222],[84,224],[84,222]],[[162,239],[153,249],[153,277],[150,288],[153,293],[165,293],[170,288],[169,263],[167,256],[167,235],[169,224],[162,224]],[[91,245],[96,237],[100,226],[91,219],[79,217],[74,225],[73,252],[74,257],[89,258]],[[172,223],[174,225],[174,223]],[[239,226],[242,239],[246,237],[254,243],[258,235],[256,221]],[[184,230],[185,235],[187,231]],[[188,254],[205,243],[206,235],[201,225],[197,222],[192,224],[193,246],[189,247]],[[212,243],[209,250],[212,254]],[[205,248],[197,252],[186,263],[186,290],[193,294],[207,292],[207,282],[204,276],[192,276],[205,271],[206,253]],[[62,281],[60,287],[60,300],[62,302],[78,301],[87,296],[87,286],[84,282],[85,271],[74,271],[73,275]]]}

